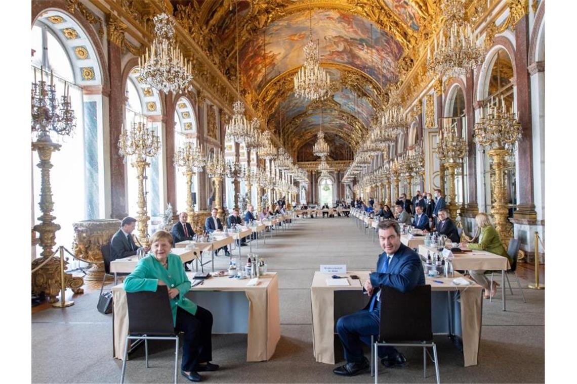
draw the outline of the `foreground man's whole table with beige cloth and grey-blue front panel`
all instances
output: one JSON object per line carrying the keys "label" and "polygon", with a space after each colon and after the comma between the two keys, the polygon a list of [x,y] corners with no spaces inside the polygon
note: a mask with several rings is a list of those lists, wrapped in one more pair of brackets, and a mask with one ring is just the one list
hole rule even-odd
{"label": "foreground man's whole table with beige cloth and grey-blue front panel", "polygon": [[[336,321],[345,314],[362,309],[369,298],[362,294],[362,283],[369,278],[369,271],[347,272],[349,286],[328,286],[331,273],[315,272],[310,286],[313,323],[313,355],[320,363],[335,364]],[[359,279],[351,279],[351,275]],[[340,276],[344,276],[340,274]],[[458,273],[456,273],[456,276]],[[437,283],[433,280],[441,281]],[[463,364],[477,365],[481,339],[482,287],[455,286],[453,277],[425,276],[431,286],[433,333],[460,336],[463,340]],[[336,336],[338,337],[338,335]]]}

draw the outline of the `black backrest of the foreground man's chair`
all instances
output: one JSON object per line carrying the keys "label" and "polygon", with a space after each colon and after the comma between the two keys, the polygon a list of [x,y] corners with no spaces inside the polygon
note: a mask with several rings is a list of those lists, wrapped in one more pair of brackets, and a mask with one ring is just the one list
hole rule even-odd
{"label": "black backrest of the foreground man's chair", "polygon": [[379,340],[387,343],[433,340],[431,286],[417,286],[405,293],[381,287]]}

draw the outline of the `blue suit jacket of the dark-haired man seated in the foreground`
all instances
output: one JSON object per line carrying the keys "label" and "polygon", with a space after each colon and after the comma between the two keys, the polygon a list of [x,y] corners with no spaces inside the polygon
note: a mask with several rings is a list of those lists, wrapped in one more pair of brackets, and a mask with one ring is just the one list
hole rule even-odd
{"label": "blue suit jacket of the dark-haired man seated in the foreground", "polygon": [[[377,271],[383,268],[385,258],[387,258],[387,253],[381,253],[379,261],[377,261]],[[421,264],[421,258],[417,252],[404,244],[401,244],[395,252],[395,256],[387,267],[387,272],[372,272],[369,276],[370,284],[374,288],[387,286],[403,293],[412,291],[418,285],[425,284],[425,271]],[[374,289],[373,295],[376,295],[377,291],[379,290]],[[380,309],[380,305],[381,303],[377,301],[377,309]]]}

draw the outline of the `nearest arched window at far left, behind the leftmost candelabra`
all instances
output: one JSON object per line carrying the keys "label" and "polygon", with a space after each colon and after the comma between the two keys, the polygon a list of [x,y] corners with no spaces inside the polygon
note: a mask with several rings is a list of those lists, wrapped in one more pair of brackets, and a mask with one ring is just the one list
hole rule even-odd
{"label": "nearest arched window at far left, behind the leftmost candelabra", "polygon": [[[51,157],[51,193],[54,201],[55,223],[61,226],[56,233],[57,245],[72,250],[73,223],[86,219],[104,217],[102,116],[97,112],[96,102],[85,100],[83,86],[100,85],[100,64],[91,40],[78,23],[59,10],[43,12],[32,26],[33,50],[31,79],[42,78],[50,82],[52,74],[56,97],[63,96],[65,86],[69,89],[70,103],[74,112],[76,128],[71,136],[51,133],[53,142],[62,145]],[[36,78],[36,79],[35,79]],[[32,153],[32,225],[41,215],[40,169],[36,166],[38,154]],[[78,267],[71,261],[69,268]]]}

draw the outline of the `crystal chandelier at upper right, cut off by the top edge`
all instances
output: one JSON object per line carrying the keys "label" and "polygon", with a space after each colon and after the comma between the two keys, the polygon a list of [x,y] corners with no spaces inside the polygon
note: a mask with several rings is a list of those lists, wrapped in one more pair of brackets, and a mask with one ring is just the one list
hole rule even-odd
{"label": "crystal chandelier at upper right, cut off by the top edge", "polygon": [[470,25],[465,24],[463,0],[444,0],[441,10],[445,24],[440,31],[439,45],[437,36],[434,37],[433,55],[428,48],[427,69],[448,77],[466,75],[483,62],[484,48],[477,44]]}

